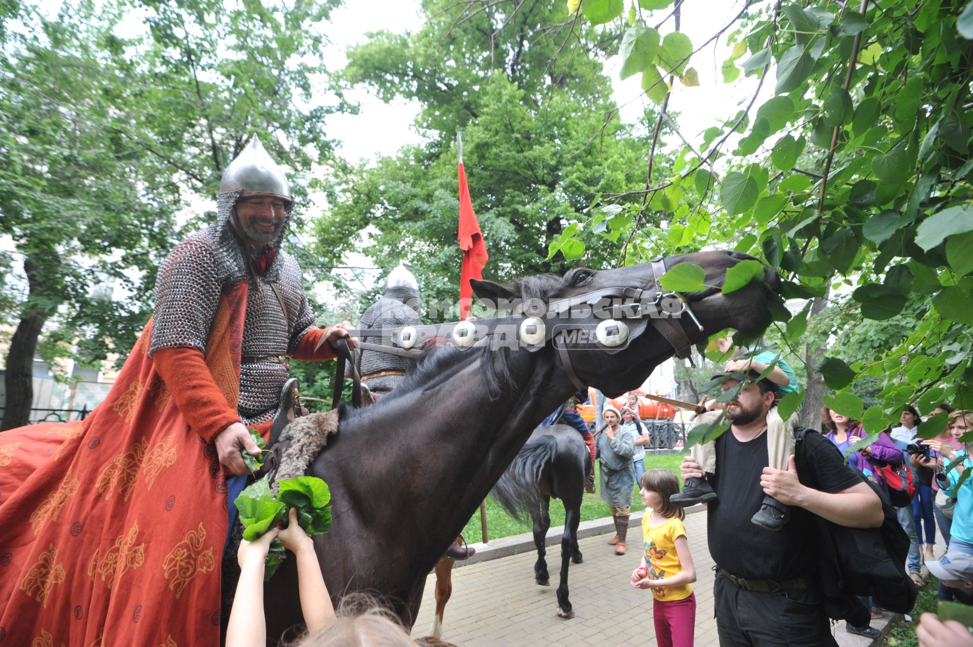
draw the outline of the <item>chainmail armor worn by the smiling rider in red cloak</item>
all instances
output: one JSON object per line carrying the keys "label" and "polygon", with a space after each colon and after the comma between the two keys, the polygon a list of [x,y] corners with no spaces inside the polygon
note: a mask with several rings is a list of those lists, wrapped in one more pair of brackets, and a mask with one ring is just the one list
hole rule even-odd
{"label": "chainmail armor worn by the smiling rider in red cloak", "polygon": [[[314,325],[307,307],[304,282],[297,261],[280,250],[290,221],[288,205],[284,225],[273,241],[278,250],[262,276],[250,276],[244,247],[230,225],[241,192],[220,194],[215,225],[183,240],[162,262],[156,283],[149,356],[161,348],[188,347],[205,352],[210,327],[225,288],[250,280],[243,325],[243,357],[273,357],[294,351]],[[287,320],[274,294],[275,284],[287,306]],[[266,422],[276,412],[280,389],[289,378],[287,368],[275,362],[244,362],[240,369],[237,413],[246,424]]]}

